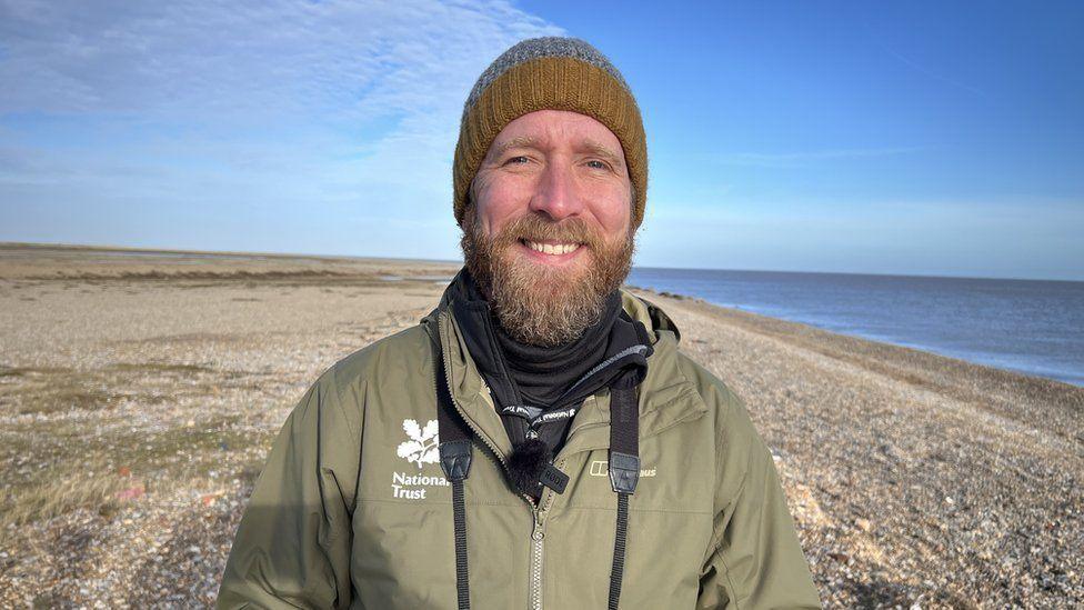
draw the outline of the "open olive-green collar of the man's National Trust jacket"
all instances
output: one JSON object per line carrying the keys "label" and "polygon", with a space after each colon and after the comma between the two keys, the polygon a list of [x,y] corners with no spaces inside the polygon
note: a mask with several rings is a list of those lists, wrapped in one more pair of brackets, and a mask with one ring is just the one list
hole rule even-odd
{"label": "open olive-green collar of the man's National Trust jacket", "polygon": [[[462,273],[462,270],[460,271]],[[452,398],[470,427],[502,459],[508,460],[512,443],[493,404],[489,388],[466,348],[455,317],[459,277],[452,280],[440,304],[423,321],[435,317]],[[640,438],[658,434],[672,426],[703,416],[707,406],[678,366],[676,324],[658,306],[621,290],[622,308],[648,329],[654,352],[648,358],[648,377],[640,384]],[[591,449],[610,447],[610,390],[602,388],[588,397],[572,420],[569,438],[558,459]]]}

